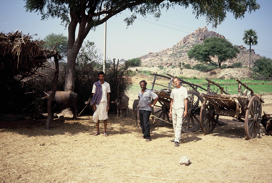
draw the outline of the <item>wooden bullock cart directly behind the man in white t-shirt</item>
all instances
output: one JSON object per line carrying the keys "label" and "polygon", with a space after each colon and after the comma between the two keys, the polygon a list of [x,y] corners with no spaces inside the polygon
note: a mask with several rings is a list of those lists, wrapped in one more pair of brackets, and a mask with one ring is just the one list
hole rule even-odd
{"label": "wooden bullock cart directly behind the man in white t-shirt", "polygon": [[[172,123],[172,120],[169,117],[169,109],[171,102],[171,90],[176,87],[172,83],[174,76],[171,74],[166,74],[167,76],[165,76],[157,73],[152,73],[151,75],[154,75],[151,89],[159,96],[157,104],[154,108],[152,108],[152,119],[158,126],[168,126]],[[169,79],[168,86],[163,86],[162,84],[156,83],[157,77]],[[200,128],[199,114],[202,102],[204,100],[204,98],[200,96],[197,89],[201,88],[203,91],[207,91],[207,89],[194,83],[186,82],[182,79],[180,79],[180,81],[182,82],[182,86],[186,87],[188,90],[188,115],[183,120],[181,130],[183,132],[195,132]],[[154,90],[155,85],[164,87],[164,89]]]}

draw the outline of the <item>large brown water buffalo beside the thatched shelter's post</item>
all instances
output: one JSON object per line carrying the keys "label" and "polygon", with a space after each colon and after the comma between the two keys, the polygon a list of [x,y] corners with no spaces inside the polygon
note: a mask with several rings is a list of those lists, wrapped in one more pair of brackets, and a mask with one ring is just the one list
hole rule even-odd
{"label": "large brown water buffalo beside the thatched shelter's post", "polygon": [[[45,96],[45,99],[48,99],[51,95],[52,91],[45,92],[47,96]],[[52,101],[52,115],[56,111],[61,111],[63,109],[70,108],[73,113],[73,118],[77,118],[77,94],[71,91],[68,92],[60,92],[56,91],[55,97]]]}

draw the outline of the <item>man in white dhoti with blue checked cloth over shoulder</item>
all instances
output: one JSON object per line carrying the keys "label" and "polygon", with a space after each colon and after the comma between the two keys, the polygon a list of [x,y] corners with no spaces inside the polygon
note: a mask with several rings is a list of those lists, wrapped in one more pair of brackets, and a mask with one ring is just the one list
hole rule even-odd
{"label": "man in white dhoti with blue checked cloth over shoulder", "polygon": [[104,136],[107,135],[108,111],[110,109],[110,84],[105,82],[105,73],[103,71],[98,73],[99,81],[95,82],[92,87],[92,104],[95,111],[92,118],[96,123],[96,133],[99,135],[99,122],[104,120]]}

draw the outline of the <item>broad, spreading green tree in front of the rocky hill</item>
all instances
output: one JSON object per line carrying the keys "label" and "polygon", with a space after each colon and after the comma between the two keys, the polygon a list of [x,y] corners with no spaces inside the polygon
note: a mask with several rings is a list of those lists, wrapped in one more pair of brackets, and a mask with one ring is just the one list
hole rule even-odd
{"label": "broad, spreading green tree in front of the rocky hill", "polygon": [[236,58],[239,49],[232,45],[231,42],[224,38],[211,37],[204,39],[203,44],[195,44],[188,52],[187,55],[190,59],[194,58],[202,63],[211,63],[213,60],[218,59],[218,67],[221,68],[221,63]]}

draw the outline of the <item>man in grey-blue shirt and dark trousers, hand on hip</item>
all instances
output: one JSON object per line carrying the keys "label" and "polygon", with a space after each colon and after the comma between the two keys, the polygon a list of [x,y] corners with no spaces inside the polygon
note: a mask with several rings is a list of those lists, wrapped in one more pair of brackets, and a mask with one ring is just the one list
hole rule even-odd
{"label": "man in grey-blue shirt and dark trousers, hand on hip", "polygon": [[[140,113],[140,122],[143,132],[141,138],[146,139],[145,141],[151,141],[150,136],[150,126],[149,126],[149,117],[152,111],[152,107],[157,103],[159,97],[152,90],[146,88],[146,81],[140,81],[140,87],[142,90],[138,93],[139,98],[139,113]],[[151,104],[151,98],[154,99],[153,104]]]}

